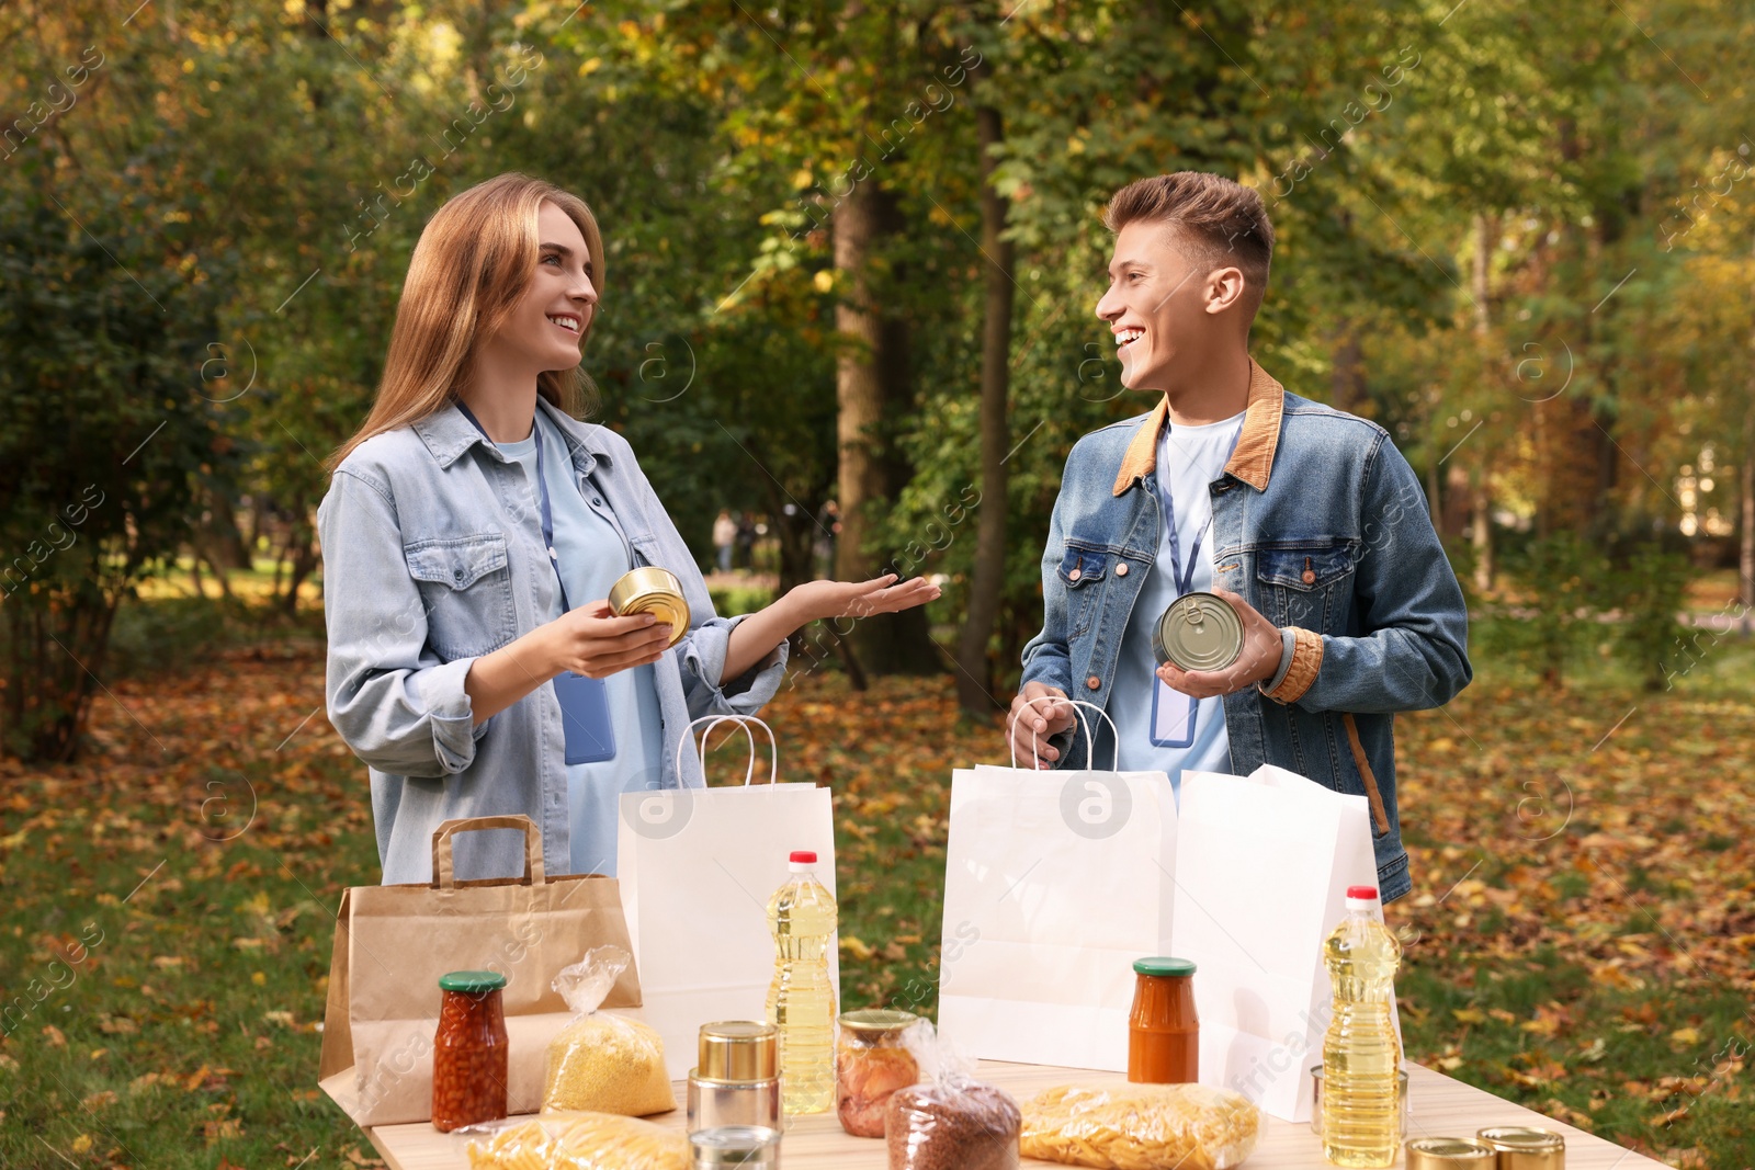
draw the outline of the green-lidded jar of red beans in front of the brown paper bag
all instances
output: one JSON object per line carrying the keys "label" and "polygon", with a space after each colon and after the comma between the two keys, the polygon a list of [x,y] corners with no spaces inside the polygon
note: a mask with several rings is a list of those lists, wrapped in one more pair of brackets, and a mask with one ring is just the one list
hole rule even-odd
{"label": "green-lidded jar of red beans in front of the brown paper bag", "polygon": [[433,1037],[433,1128],[448,1133],[505,1116],[505,1007],[498,972],[451,972],[439,979]]}

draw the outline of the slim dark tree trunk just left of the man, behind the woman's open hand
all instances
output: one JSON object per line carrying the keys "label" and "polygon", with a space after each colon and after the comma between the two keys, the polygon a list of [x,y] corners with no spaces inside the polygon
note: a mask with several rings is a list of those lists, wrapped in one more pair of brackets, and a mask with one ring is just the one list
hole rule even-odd
{"label": "slim dark tree trunk just left of the man, behind the woman's open hand", "polygon": [[1004,140],[1000,114],[976,107],[981,149],[981,251],[986,253],[986,310],[981,326],[981,514],[976,517],[976,558],[969,574],[969,610],[956,639],[956,702],[969,714],[993,710],[988,642],[1006,588],[1006,456],[1011,430],[1006,400],[1011,375],[1013,246],[1002,240],[1006,198],[993,189],[993,147]]}

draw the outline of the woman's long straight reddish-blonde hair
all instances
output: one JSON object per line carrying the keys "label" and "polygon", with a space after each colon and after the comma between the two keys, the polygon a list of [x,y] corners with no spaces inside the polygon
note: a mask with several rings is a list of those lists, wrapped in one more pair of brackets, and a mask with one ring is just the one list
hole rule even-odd
{"label": "woman's long straight reddish-blonde hair", "polygon": [[[509,172],[451,196],[414,246],[372,412],[330,456],[328,470],[372,435],[409,426],[451,403],[481,342],[498,333],[530,286],[537,267],[537,210],[544,200],[579,225],[591,249],[591,284],[604,291],[604,237],[597,216],[577,195]],[[590,335],[586,325],[581,347]],[[574,417],[595,407],[583,365],[544,370],[537,375],[537,393]]]}

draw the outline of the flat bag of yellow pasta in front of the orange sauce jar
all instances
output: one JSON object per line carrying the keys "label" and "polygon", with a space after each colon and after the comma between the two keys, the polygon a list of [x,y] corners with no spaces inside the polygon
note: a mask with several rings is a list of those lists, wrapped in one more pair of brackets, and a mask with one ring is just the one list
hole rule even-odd
{"label": "flat bag of yellow pasta in front of the orange sauce jar", "polygon": [[1106,1170],[1227,1170],[1250,1156],[1262,1114],[1204,1084],[1064,1086],[1023,1107],[1020,1149]]}

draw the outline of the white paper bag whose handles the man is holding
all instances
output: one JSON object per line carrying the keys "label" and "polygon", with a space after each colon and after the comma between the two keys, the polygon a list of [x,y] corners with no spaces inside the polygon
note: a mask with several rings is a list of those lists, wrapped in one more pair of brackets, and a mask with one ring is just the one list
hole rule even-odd
{"label": "white paper bag whose handles the man is holding", "polygon": [[1162,772],[955,772],[939,1033],[967,1056],[1125,1070],[1132,963],[1167,952],[1174,872]]}

